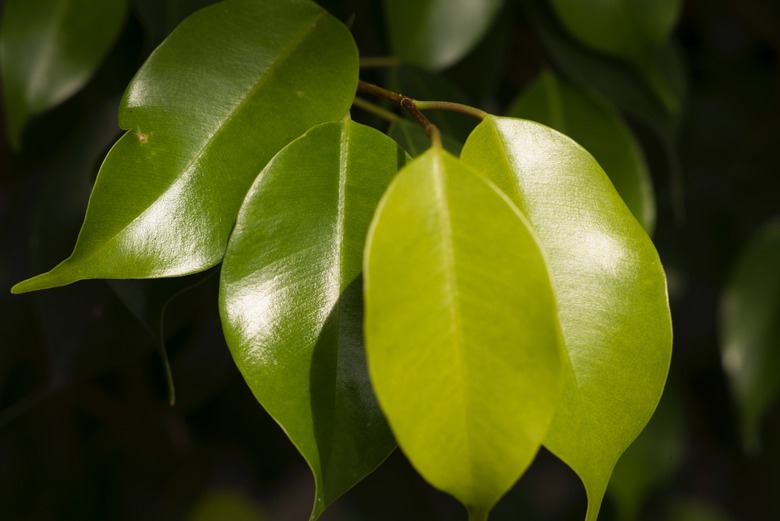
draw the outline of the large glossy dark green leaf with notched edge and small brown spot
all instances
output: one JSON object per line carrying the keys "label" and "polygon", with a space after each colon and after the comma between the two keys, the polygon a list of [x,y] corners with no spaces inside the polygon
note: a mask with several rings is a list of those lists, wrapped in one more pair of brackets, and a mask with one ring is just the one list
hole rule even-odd
{"label": "large glossy dark green leaf with notched edge and small brown spot", "polygon": [[307,0],[227,0],[157,48],[119,111],[73,254],[16,285],[185,275],[217,264],[247,189],[311,126],[349,109],[357,52]]}

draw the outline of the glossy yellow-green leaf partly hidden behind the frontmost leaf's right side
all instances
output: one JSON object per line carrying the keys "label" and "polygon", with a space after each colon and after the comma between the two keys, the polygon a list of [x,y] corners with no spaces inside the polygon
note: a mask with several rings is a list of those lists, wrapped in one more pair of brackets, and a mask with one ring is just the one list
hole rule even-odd
{"label": "glossy yellow-green leaf partly hidden behind the frontmost leaf's right side", "polygon": [[658,254],[598,163],[548,127],[487,117],[462,160],[517,204],[549,259],[571,361],[545,446],[580,476],[598,516],[618,457],[653,414],[671,356]]}

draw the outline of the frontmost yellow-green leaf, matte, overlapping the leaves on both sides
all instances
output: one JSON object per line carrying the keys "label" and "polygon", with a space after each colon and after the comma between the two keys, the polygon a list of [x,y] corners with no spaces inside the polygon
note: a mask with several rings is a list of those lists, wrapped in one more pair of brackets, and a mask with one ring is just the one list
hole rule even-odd
{"label": "frontmost yellow-green leaf, matte, overlapping the leaves on both sides", "polygon": [[483,519],[531,463],[560,395],[536,238],[492,184],[434,147],[382,199],[365,276],[369,370],[398,444]]}

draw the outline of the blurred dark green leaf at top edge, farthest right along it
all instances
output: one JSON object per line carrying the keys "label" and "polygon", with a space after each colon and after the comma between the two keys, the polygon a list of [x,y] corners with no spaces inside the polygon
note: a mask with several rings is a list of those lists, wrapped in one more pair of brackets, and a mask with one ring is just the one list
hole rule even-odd
{"label": "blurred dark green leaf at top edge, farthest right along it", "polygon": [[551,4],[566,29],[581,42],[628,59],[643,59],[658,50],[682,8],[682,0],[551,0]]}

